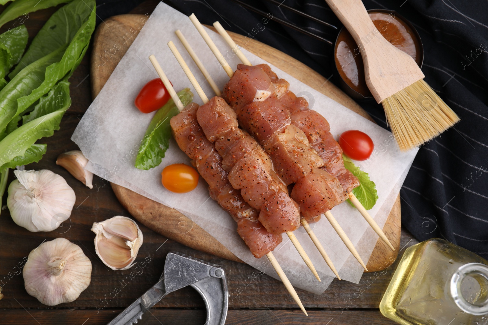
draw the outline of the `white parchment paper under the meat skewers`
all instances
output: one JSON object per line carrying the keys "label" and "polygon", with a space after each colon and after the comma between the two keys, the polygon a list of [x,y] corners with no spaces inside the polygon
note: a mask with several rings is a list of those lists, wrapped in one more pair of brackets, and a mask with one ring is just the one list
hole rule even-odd
{"label": "white parchment paper under the meat skewers", "polygon": [[[174,34],[177,29],[183,32],[217,85],[223,88],[228,77],[193,24],[182,13],[160,3],[100,94],[88,108],[76,128],[72,140],[80,146],[81,151],[89,159],[90,163],[87,167],[90,171],[110,182],[181,211],[240,259],[277,278],[274,269],[268,265],[266,257],[258,260],[251,255],[236,232],[235,222],[227,212],[219,207],[217,202],[209,199],[207,185],[202,179],[197,189],[189,193],[177,194],[163,188],[161,172],[164,167],[174,163],[190,163],[188,157],[178,148],[173,139],[160,166],[149,171],[142,171],[134,167],[136,153],[153,116],[153,114],[142,114],[134,106],[134,99],[142,86],[150,79],[157,77],[149,62],[149,55],[156,56],[177,91],[190,87],[196,94],[166,45],[168,41],[172,40],[197,80],[202,84],[207,96],[214,95]],[[232,56],[229,47],[218,34],[210,30],[209,34],[224,56],[228,58],[230,66],[235,69],[240,63],[238,58]],[[122,38],[121,41],[123,41]],[[252,64],[267,63],[245,50],[243,52]],[[373,139],[376,151],[370,159],[357,162],[357,165],[368,172],[370,178],[376,183],[379,199],[369,213],[380,227],[383,227],[417,149],[401,153],[392,140],[391,133],[385,129],[353,113],[276,67],[271,65],[271,68],[278,76],[289,81],[290,89],[295,94],[308,97],[311,105],[313,103],[313,109],[327,118],[331,132],[336,138],[342,132],[353,129],[366,132]],[[197,95],[194,99],[197,103],[202,104]],[[331,212],[366,263],[378,236],[370,229],[359,211],[349,204],[340,204]],[[346,249],[325,217],[312,227],[341,277],[357,283],[363,269]],[[322,282],[318,282],[305,266],[286,235],[283,236],[283,243],[273,253],[295,287],[320,294],[332,281],[333,273],[325,264],[305,230],[298,229],[295,234],[312,260]]]}

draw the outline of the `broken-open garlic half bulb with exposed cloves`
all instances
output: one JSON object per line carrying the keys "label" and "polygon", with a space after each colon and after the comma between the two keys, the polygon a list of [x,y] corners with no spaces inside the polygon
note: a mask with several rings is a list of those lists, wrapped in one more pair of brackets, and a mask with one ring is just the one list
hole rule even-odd
{"label": "broken-open garlic half bulb with exposed cloves", "polygon": [[142,231],[134,220],[117,215],[95,222],[95,251],[102,262],[113,270],[125,270],[134,265],[142,245]]}

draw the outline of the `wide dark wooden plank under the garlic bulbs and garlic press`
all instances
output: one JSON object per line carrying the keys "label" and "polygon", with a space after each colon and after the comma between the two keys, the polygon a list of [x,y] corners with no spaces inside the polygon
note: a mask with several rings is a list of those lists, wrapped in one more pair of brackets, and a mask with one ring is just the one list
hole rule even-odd
{"label": "wide dark wooden plank under the garlic bulbs and garlic press", "polygon": [[[70,120],[63,119],[62,124],[67,122]],[[58,136],[62,136],[61,133],[58,132],[48,140],[55,142]],[[48,143],[48,148],[50,144],[52,143]],[[63,151],[63,148],[59,150]],[[169,251],[182,252],[209,263],[222,265],[227,274],[230,295],[229,306],[231,308],[296,307],[281,282],[267,275],[258,276],[255,273],[256,270],[248,265],[220,259],[215,255],[190,249],[168,240],[141,224],[144,244],[140,249],[137,261],[141,266],[143,265],[142,262],[147,261],[146,258],[149,257],[150,262],[146,263],[144,268],[124,271],[113,271],[106,268],[95,254],[93,245],[95,234],[90,231],[91,225],[94,221],[102,221],[113,215],[128,215],[128,212],[117,202],[110,187],[100,187],[98,191],[89,190],[60,167],[52,167],[52,163],[49,163],[48,160],[41,160],[37,167],[40,169],[49,167],[54,172],[60,173],[77,193],[75,210],[69,219],[71,228],[69,228],[70,224],[65,222],[61,228],[54,231],[33,233],[15,225],[8,214],[8,210],[2,211],[0,217],[0,260],[2,261],[0,263],[0,284],[2,285],[2,293],[5,295],[1,300],[2,307],[18,308],[21,304],[26,308],[45,308],[26,293],[19,263],[25,261],[28,253],[40,245],[42,241],[57,237],[67,238],[79,245],[93,265],[91,285],[81,293],[75,302],[62,304],[57,308],[101,309],[130,305],[147,288],[156,283],[163,270],[165,256]],[[77,207],[78,209],[76,209]],[[411,235],[404,232],[402,247],[414,243],[416,241],[412,239]],[[405,248],[402,252],[404,250]],[[300,289],[297,289],[297,292],[306,308],[376,308],[397,263],[383,272],[365,273],[358,285],[334,280],[322,295],[315,295]],[[131,276],[133,271],[139,274],[134,275],[133,273]],[[113,297],[111,293],[116,287],[121,289],[121,293]],[[270,295],[270,292],[273,294]],[[110,299],[110,296],[113,299]],[[164,299],[157,306],[197,308],[203,307],[203,301],[193,289],[188,287],[171,293],[168,299]]]}

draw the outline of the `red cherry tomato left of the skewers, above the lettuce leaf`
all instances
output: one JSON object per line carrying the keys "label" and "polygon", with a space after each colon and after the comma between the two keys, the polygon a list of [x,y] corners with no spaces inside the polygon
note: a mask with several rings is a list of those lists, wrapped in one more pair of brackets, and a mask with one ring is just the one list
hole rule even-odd
{"label": "red cherry tomato left of the skewers, above the lettuce leaf", "polygon": [[[173,84],[171,84],[173,85]],[[169,100],[169,93],[160,78],[152,79],[142,87],[134,104],[142,113],[159,110]]]}

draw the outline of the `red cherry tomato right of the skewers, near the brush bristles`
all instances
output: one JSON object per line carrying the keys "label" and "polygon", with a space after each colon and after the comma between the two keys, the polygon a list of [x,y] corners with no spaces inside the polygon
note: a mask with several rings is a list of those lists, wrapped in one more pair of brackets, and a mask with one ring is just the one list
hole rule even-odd
{"label": "red cherry tomato right of the skewers, near the brush bristles", "polygon": [[374,149],[373,140],[364,132],[349,130],[341,134],[339,145],[354,160],[366,160]]}

